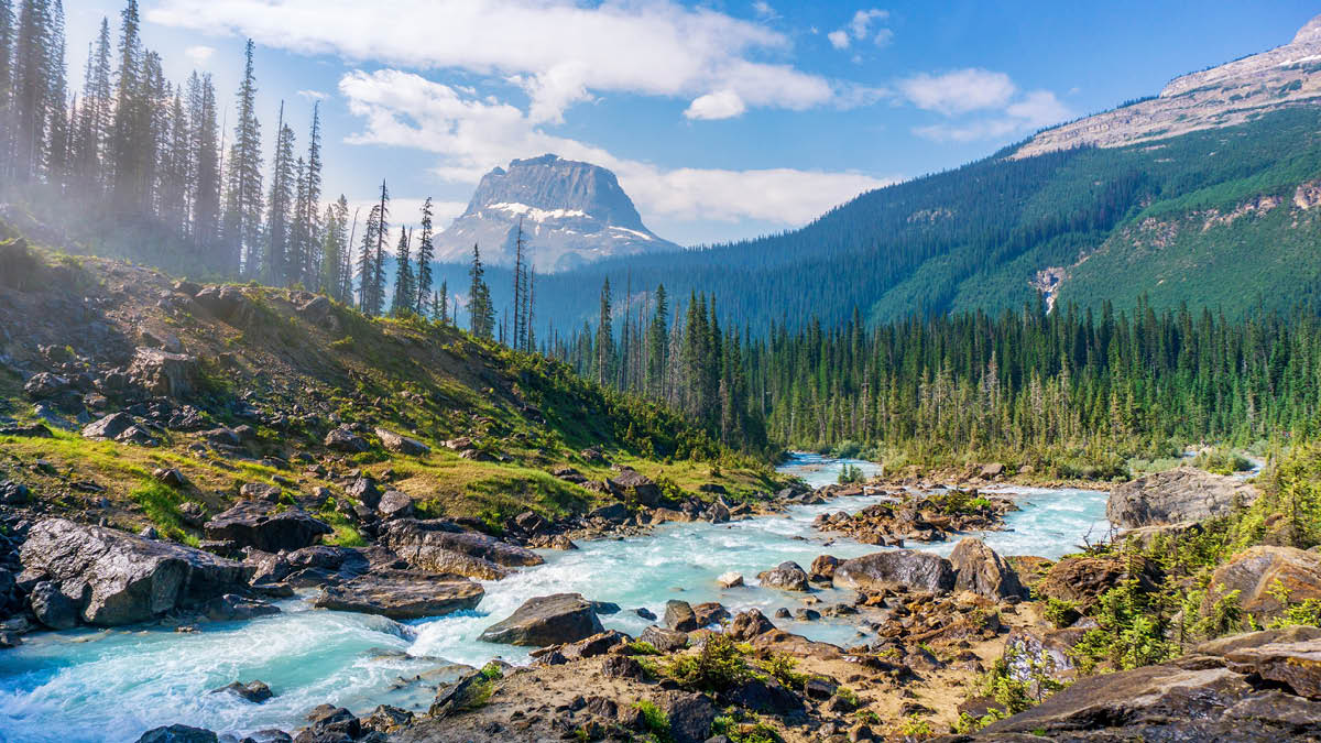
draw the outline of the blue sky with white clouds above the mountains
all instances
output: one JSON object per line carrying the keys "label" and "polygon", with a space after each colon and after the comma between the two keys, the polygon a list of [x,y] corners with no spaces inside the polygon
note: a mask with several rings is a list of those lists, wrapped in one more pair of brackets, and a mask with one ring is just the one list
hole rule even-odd
{"label": "blue sky with white clouds above the mountains", "polygon": [[[65,0],[71,83],[119,0]],[[802,225],[1038,127],[1288,42],[1314,4],[141,0],[166,73],[227,111],[258,42],[263,143],[321,99],[326,190],[441,223],[481,173],[543,152],[616,171],[647,225],[700,243]],[[232,118],[229,120],[232,124]]]}

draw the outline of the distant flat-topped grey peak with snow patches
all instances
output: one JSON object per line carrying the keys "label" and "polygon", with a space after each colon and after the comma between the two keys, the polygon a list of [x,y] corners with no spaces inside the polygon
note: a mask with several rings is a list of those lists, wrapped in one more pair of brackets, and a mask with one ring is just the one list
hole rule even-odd
{"label": "distant flat-topped grey peak with snow patches", "polygon": [[590,163],[543,155],[514,160],[482,176],[468,210],[436,237],[440,260],[465,262],[473,245],[482,259],[513,266],[518,225],[532,267],[567,271],[614,255],[679,246],[642,223],[614,173]]}

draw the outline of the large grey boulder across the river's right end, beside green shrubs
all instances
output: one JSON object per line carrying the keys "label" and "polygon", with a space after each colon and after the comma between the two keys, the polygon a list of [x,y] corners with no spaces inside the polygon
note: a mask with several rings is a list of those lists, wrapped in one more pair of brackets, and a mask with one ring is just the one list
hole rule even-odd
{"label": "large grey boulder across the river's right end, beside green shrubs", "polygon": [[1202,521],[1248,505],[1256,496],[1256,488],[1234,477],[1180,467],[1115,488],[1106,518],[1122,529]]}

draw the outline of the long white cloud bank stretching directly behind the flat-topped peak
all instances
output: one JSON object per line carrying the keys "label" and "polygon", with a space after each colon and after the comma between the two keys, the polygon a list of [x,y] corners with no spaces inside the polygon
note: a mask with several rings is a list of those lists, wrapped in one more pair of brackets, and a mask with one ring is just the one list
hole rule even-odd
{"label": "long white cloud bank stretching directly behind the flat-topped peak", "polygon": [[861,173],[789,168],[664,169],[546,134],[515,106],[464,95],[399,70],[350,73],[339,81],[339,91],[350,112],[365,119],[363,131],[350,143],[433,152],[439,163],[432,172],[444,181],[474,184],[495,165],[553,152],[614,171],[646,215],[801,225],[864,190],[893,182]]}

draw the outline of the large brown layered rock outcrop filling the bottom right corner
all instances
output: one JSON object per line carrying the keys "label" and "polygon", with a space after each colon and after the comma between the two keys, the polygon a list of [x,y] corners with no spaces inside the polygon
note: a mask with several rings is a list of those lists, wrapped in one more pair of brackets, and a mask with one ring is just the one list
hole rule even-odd
{"label": "large brown layered rock outcrop filling the bottom right corner", "polygon": [[1289,635],[1242,635],[1198,646],[1168,664],[1083,677],[972,739],[1312,739],[1321,734],[1321,707],[1316,703],[1321,695],[1321,641],[1316,636],[1321,633],[1305,628]]}

